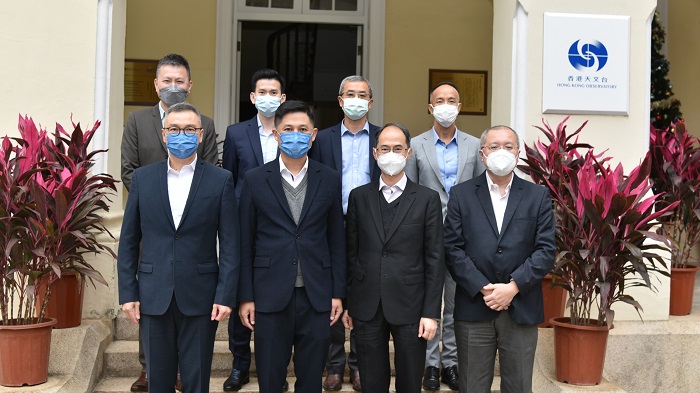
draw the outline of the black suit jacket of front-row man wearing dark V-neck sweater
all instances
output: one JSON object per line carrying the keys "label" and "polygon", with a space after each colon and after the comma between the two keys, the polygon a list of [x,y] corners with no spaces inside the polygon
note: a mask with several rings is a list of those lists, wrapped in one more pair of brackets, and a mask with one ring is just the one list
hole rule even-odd
{"label": "black suit jacket of front-row man wearing dark V-neck sweater", "polygon": [[409,180],[387,236],[379,205],[383,197],[378,181],[350,192],[349,314],[369,321],[381,301],[384,317],[394,325],[440,318],[445,280],[440,197]]}

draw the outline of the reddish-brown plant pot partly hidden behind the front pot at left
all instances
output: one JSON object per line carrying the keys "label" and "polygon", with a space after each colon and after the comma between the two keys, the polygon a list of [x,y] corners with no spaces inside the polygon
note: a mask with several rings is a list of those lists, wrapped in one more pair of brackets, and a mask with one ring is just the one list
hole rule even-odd
{"label": "reddish-brown plant pot partly hidden behind the front pot at left", "polygon": [[[48,277],[42,277],[39,280],[39,296],[37,296],[36,302],[37,315],[39,315],[41,303],[44,301],[47,283]],[[75,272],[62,272],[61,278],[53,284],[44,317],[58,320],[54,326],[55,329],[80,326],[83,319],[84,294],[85,280],[78,280]]]}

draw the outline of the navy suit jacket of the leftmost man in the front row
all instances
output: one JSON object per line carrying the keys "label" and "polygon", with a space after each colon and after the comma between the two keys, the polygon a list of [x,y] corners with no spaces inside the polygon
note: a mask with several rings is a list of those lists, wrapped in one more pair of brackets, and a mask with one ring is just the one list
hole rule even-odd
{"label": "navy suit jacket of the leftmost man in the front row", "polygon": [[134,171],[119,240],[119,303],[140,301],[148,315],[165,313],[173,296],[188,316],[235,306],[240,243],[231,174],[197,160],[175,229],[166,171],[166,161]]}

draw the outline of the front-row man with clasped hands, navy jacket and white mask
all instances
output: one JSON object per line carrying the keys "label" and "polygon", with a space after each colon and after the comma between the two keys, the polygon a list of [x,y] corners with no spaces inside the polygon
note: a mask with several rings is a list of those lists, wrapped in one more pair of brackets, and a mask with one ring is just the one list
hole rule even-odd
{"label": "front-row man with clasped hands, navy jacket and white mask", "polygon": [[459,390],[490,392],[496,350],[501,391],[531,392],[542,278],[554,264],[549,192],[513,173],[518,134],[481,135],[487,171],[452,187],[445,219],[447,267],[457,282]]}

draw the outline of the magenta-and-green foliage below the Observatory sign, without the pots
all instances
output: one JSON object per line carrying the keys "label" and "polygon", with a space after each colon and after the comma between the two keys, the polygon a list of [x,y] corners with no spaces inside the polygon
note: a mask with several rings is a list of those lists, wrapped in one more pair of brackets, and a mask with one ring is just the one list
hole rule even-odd
{"label": "magenta-and-green foliage below the Observatory sign, without the pots", "polygon": [[[567,308],[571,323],[612,326],[613,303],[642,306],[625,290],[645,286],[654,290],[651,272],[668,275],[664,260],[655,250],[667,243],[653,232],[657,220],[676,204],[654,211],[658,196],[648,196],[651,158],[625,176],[622,165],[614,170],[610,157],[594,154],[578,142],[584,123],[567,135],[566,121],[556,130],[543,121],[538,127],[549,144],[538,141],[525,146],[527,165],[520,169],[550,191],[557,220],[557,256],[552,272],[555,285],[569,292]],[[586,149],[580,152],[579,149]],[[641,314],[640,314],[641,318]]]}

